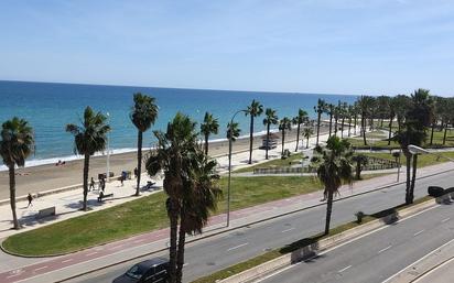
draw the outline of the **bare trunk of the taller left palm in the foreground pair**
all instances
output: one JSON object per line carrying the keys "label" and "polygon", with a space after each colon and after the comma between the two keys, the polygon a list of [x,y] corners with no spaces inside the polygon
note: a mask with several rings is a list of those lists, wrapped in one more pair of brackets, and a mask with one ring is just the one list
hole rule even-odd
{"label": "bare trunk of the taller left palm in the foreground pair", "polygon": [[176,282],[176,233],[179,229],[179,209],[176,200],[169,199],[170,247],[169,247],[169,282]]}

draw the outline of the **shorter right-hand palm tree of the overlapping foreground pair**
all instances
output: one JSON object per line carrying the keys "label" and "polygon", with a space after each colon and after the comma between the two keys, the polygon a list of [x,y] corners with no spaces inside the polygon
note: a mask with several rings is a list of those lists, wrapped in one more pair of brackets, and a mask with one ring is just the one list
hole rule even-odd
{"label": "shorter right-hand palm tree of the overlapping foreground pair", "polygon": [[190,163],[187,179],[182,199],[179,231],[179,250],[176,258],[176,282],[182,282],[186,233],[202,233],[208,222],[210,211],[217,208],[221,196],[216,173],[217,163],[209,160],[202,151],[196,151]]}

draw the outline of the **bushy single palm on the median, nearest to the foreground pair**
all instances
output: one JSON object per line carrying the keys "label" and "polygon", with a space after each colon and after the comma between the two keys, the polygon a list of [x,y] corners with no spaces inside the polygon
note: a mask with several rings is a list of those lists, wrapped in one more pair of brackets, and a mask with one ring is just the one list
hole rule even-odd
{"label": "bushy single palm on the median, nearest to the foreground pair", "polygon": [[325,186],[324,196],[326,202],[325,235],[329,233],[331,215],[333,211],[334,195],[343,182],[350,183],[352,176],[352,150],[346,140],[338,137],[329,137],[326,148],[315,148],[317,155],[312,157],[312,163],[316,167],[317,176]]}

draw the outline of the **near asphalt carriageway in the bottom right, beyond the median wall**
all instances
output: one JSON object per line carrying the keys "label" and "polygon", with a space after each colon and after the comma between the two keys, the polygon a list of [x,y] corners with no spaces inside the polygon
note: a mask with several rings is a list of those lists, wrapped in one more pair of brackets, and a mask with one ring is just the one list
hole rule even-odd
{"label": "near asphalt carriageway in the bottom right, beyond the median wall", "polygon": [[453,239],[454,207],[441,205],[283,270],[263,283],[380,283]]}

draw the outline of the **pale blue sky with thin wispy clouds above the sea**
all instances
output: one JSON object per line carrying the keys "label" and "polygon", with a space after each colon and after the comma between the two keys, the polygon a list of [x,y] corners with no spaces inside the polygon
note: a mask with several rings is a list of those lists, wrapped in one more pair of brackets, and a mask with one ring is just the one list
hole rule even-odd
{"label": "pale blue sky with thin wispy clouds above the sea", "polygon": [[0,1],[0,79],[454,95],[452,0]]}

